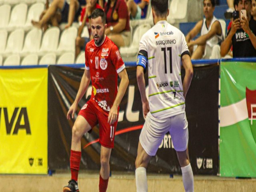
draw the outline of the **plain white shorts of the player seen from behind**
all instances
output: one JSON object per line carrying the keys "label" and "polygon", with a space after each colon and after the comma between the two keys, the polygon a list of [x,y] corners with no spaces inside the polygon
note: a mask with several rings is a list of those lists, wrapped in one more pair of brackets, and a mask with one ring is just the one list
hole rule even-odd
{"label": "plain white shorts of the player seen from behind", "polygon": [[164,119],[156,119],[148,113],[140,133],[140,144],[148,155],[156,155],[167,132],[170,132],[174,149],[185,151],[188,146],[188,121],[185,112]]}

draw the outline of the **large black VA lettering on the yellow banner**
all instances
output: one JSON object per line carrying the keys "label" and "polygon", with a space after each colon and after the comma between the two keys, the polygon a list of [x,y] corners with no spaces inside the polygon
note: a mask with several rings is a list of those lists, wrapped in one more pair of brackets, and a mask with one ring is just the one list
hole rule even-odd
{"label": "large black VA lettering on the yellow banner", "polygon": [[8,114],[10,114],[10,112],[8,112],[8,109],[6,107],[0,108],[0,120],[1,115],[3,115],[7,135],[17,135],[19,130],[26,130],[26,135],[31,135],[30,123],[28,120],[28,112],[26,107],[16,107],[14,108],[14,111],[11,116],[8,116]]}

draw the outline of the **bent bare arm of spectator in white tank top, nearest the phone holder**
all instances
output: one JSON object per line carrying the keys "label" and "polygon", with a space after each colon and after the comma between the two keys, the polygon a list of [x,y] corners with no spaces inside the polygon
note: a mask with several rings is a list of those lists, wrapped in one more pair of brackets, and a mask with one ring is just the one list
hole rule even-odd
{"label": "bent bare arm of spectator in white tank top, nearest the phone holder", "polygon": [[220,25],[220,22],[218,21],[215,21],[213,24],[212,24],[212,27],[211,27],[211,30],[205,34],[205,35],[202,35],[200,37],[198,37],[196,40],[194,41],[190,41],[188,43],[188,48],[190,48],[191,46],[194,46],[194,45],[205,45],[206,42],[212,38],[214,35],[216,34],[219,34],[221,35],[222,34],[222,29],[221,29],[221,25]]}

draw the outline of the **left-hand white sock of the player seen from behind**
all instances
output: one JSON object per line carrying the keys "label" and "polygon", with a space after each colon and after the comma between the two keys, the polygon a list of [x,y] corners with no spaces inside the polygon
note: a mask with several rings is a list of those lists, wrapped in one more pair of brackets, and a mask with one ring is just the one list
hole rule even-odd
{"label": "left-hand white sock of the player seen from behind", "polygon": [[137,192],[148,192],[146,168],[138,167],[135,170]]}

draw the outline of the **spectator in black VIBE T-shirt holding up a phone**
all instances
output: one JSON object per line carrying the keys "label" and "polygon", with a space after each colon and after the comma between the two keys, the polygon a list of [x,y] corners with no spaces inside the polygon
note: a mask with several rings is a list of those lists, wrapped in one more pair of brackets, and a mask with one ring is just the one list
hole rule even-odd
{"label": "spectator in black VIBE T-shirt holding up a phone", "polygon": [[233,46],[233,57],[256,57],[256,21],[251,17],[252,0],[234,0],[236,10],[246,10],[246,16],[232,22],[227,38],[220,46],[220,55],[225,56]]}

